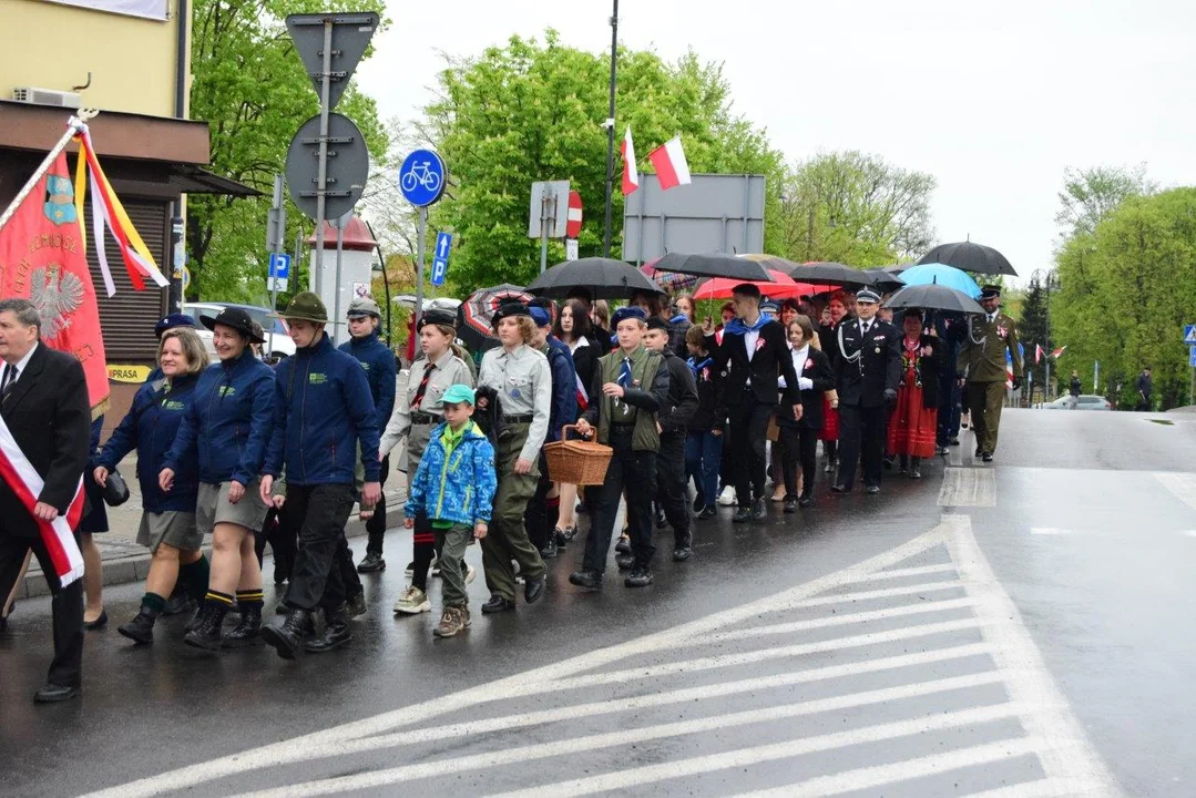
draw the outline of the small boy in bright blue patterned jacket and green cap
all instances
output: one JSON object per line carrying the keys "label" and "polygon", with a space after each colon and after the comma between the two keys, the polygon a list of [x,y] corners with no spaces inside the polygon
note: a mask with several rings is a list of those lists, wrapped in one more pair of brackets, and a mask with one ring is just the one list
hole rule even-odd
{"label": "small boy in bright blue patterned jacket and green cap", "polygon": [[414,529],[415,516],[427,513],[440,550],[444,614],[433,634],[451,638],[469,626],[469,596],[462,560],[472,538],[489,529],[498,475],[494,446],[474,424],[474,389],[451,385],[444,394],[445,422],[432,431],[428,447],[403,507],[403,525]]}

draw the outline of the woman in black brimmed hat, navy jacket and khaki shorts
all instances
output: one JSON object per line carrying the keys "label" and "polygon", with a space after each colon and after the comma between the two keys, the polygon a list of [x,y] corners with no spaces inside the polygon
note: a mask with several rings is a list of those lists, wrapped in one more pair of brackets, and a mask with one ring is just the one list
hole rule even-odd
{"label": "woman in black brimmed hat, navy jacket and khaki shorts", "polygon": [[[212,577],[194,628],[183,640],[216,650],[248,645],[262,628],[262,569],[254,535],[268,511],[258,480],[274,430],[274,371],[254,357],[250,343],[261,343],[262,336],[244,310],[225,307],[215,318],[201,321],[212,330],[220,363],[200,376],[158,483],[170,493],[177,475],[197,459],[195,524],[200,532],[213,535]],[[240,625],[222,635],[220,625],[234,597]]]}

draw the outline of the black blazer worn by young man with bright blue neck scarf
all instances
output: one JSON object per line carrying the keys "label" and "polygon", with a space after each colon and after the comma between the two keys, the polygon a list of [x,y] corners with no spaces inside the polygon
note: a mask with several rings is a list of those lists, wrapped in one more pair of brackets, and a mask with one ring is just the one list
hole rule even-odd
{"label": "black blazer worn by young man with bright blue neck scarf", "polygon": [[[718,342],[714,333],[709,333],[706,336],[706,348],[719,365],[719,370],[726,371],[726,378],[722,380],[722,400],[728,407],[738,404],[749,390],[756,394],[756,401],[761,404],[775,404],[777,377],[785,377],[785,384],[788,385],[785,389],[785,403],[797,404],[801,401],[798,396],[798,376],[793,371],[789,345],[780,322],[768,322],[759,329],[759,339],[756,341],[756,352],[751,360],[748,359],[748,348],[742,333],[732,334],[724,330],[722,343]],[[748,385],[749,377],[751,385]]]}

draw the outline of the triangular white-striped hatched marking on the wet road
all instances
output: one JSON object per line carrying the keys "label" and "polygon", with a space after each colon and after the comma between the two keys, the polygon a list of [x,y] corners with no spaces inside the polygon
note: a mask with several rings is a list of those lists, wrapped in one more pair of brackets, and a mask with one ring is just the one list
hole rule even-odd
{"label": "triangular white-striped hatched marking on the wet road", "polygon": [[[327,778],[279,770],[318,761]],[[97,794],[246,775],[280,798],[1118,794],[956,514],[765,599]]]}

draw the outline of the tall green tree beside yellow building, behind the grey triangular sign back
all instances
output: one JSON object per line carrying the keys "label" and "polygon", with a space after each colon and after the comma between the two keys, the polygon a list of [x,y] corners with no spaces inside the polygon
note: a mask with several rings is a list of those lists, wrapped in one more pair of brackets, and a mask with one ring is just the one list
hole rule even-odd
{"label": "tall green tree beside yellow building, behind the grey triangular sign back", "polygon": [[[385,4],[196,0],[194,5],[191,118],[210,126],[210,169],[262,194],[245,199],[189,197],[189,299],[261,301],[266,296],[266,217],[274,175],[283,171],[295,130],[319,112],[319,98],[283,19],[291,13],[321,11],[380,13]],[[358,123],[374,158],[384,156],[386,132],[378,122],[373,99],[349,86],[336,111]],[[288,206],[287,240],[293,242],[301,229],[312,230],[312,224],[289,200]]]}

